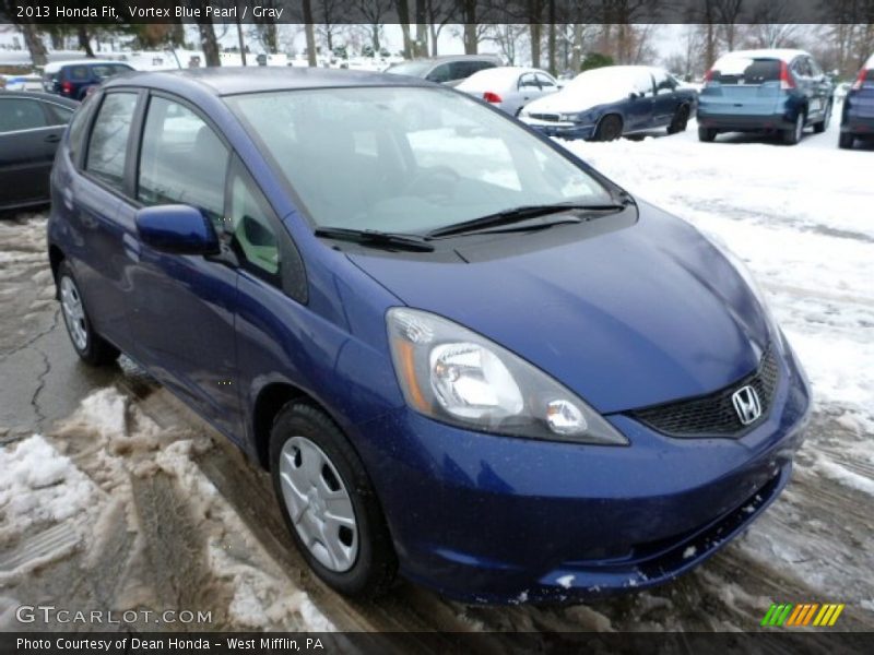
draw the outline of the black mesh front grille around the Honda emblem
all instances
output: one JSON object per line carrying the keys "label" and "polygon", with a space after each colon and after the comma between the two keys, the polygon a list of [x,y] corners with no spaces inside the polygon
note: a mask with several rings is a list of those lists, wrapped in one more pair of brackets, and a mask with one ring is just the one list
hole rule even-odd
{"label": "black mesh front grille around the Honda emblem", "polygon": [[[778,376],[777,356],[768,346],[758,369],[734,384],[706,396],[636,409],[631,417],[671,437],[741,437],[768,416]],[[747,384],[758,394],[761,416],[745,426],[734,409],[732,394]]]}

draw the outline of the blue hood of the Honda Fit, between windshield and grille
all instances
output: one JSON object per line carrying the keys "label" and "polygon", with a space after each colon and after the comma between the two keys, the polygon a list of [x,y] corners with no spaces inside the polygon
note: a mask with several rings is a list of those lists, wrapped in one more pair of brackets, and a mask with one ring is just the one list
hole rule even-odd
{"label": "blue hood of the Honda Fit, between windshield and grille", "polygon": [[497,342],[604,414],[736,382],[768,342],[757,300],[692,226],[639,207],[630,227],[533,250],[519,241],[511,254],[462,238],[453,262],[349,257],[404,303]]}

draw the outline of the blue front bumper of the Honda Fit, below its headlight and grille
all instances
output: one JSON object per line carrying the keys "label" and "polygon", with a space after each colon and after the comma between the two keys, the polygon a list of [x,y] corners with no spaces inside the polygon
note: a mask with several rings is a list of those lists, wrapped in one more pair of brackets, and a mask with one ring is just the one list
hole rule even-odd
{"label": "blue front bumper of the Honda Fit, below its headlight and grille", "polygon": [[406,577],[464,602],[566,600],[672,580],[789,480],[810,390],[789,352],[769,417],[740,439],[674,439],[622,415],[630,446],[460,430],[409,409],[359,426]]}

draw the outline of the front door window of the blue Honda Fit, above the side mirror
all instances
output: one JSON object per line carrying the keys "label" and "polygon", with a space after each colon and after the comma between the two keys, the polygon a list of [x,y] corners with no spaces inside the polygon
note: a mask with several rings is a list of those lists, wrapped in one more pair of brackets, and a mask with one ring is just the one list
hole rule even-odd
{"label": "front door window of the blue Honda Fit, above the side mirror", "polygon": [[143,131],[137,198],[198,207],[223,228],[228,151],[188,107],[153,97]]}

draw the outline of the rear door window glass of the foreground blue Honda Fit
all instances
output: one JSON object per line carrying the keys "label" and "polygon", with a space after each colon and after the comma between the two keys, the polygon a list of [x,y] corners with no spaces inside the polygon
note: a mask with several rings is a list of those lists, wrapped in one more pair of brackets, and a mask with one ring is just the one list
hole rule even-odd
{"label": "rear door window glass of the foreground blue Honda Fit", "polygon": [[135,108],[135,93],[108,94],[97,111],[88,141],[85,169],[119,190],[123,186],[128,135]]}

